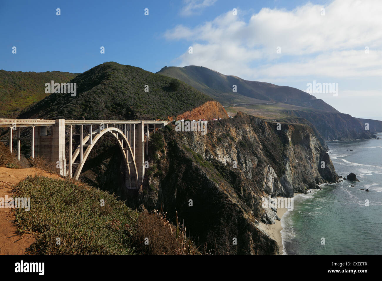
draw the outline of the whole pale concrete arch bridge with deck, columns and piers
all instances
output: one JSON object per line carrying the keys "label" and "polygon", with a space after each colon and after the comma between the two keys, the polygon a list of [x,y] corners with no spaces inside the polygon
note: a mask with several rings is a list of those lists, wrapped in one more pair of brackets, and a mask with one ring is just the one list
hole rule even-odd
{"label": "whole pale concrete arch bridge with deck, columns and piers", "polygon": [[[167,125],[167,121],[131,120],[44,120],[0,119],[0,127],[9,128],[9,147],[13,153],[13,133],[17,136],[20,159],[21,127],[31,128],[31,157],[43,156],[57,163],[60,175],[79,178],[95,143],[106,133],[118,142],[126,167],[126,188],[137,189],[144,177],[144,150],[148,153],[149,132]],[[88,129],[84,132],[84,126]],[[76,129],[76,130],[74,130]],[[79,133],[74,133],[74,131]],[[49,134],[50,132],[50,134]],[[147,134],[146,143],[144,134]],[[73,137],[79,135],[79,145],[73,146]],[[66,139],[65,139],[66,138]],[[68,141],[66,141],[68,140]],[[69,145],[66,145],[69,143]],[[69,155],[69,159],[66,159]]]}

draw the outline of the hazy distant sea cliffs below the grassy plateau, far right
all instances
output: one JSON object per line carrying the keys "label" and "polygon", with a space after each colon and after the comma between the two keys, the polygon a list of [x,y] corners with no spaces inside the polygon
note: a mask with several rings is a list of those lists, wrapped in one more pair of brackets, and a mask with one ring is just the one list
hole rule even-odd
{"label": "hazy distant sea cliffs below the grassy plateau, far right", "polygon": [[[380,121],[372,122],[375,126],[372,129],[365,130],[365,125],[361,120],[352,117],[349,114],[335,112],[308,112],[303,110],[285,110],[285,113],[302,117],[311,122],[320,132],[325,140],[353,140],[375,138],[372,131],[378,128]],[[366,120],[366,119],[364,119]],[[382,123],[382,122],[381,122]]]}

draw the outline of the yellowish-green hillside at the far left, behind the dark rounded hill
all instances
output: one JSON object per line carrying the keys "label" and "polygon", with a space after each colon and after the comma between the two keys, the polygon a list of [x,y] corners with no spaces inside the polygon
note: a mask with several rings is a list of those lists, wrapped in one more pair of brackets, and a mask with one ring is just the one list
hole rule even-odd
{"label": "yellowish-green hillside at the far left, behind the dark rounded hill", "polygon": [[15,118],[26,107],[40,101],[45,93],[45,83],[66,83],[77,73],[46,71],[22,72],[0,70],[0,118]]}

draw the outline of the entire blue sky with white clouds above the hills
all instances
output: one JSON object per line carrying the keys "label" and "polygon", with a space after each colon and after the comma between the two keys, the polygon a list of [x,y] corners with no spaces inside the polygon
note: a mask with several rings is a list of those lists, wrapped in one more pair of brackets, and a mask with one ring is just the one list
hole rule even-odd
{"label": "entire blue sky with white clouds above the hills", "polygon": [[341,112],[382,120],[381,5],[377,0],[2,1],[0,69],[83,72],[115,61],[152,72],[165,65],[202,65],[303,91],[316,80],[339,85],[337,97],[314,94],[317,98]]}

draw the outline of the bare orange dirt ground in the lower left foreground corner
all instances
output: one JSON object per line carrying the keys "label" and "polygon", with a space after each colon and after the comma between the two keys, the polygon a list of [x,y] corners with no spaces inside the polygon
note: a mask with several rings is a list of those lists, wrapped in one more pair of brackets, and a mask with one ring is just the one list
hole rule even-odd
{"label": "bare orange dirt ground in the lower left foreground corner", "polygon": [[[0,167],[0,197],[13,197],[12,187],[16,186],[27,175],[41,175],[44,177],[59,178],[59,175],[50,174],[41,169],[8,169]],[[34,242],[31,234],[18,235],[13,223],[15,217],[10,208],[0,208],[0,255],[21,255]]]}

